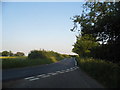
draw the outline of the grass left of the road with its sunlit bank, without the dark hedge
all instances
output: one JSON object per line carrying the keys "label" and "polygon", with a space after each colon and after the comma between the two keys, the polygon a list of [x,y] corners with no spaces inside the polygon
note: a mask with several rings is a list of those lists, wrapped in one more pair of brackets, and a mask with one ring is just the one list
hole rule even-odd
{"label": "grass left of the road with its sunlit bank, without the dark hedge", "polygon": [[53,54],[53,52],[52,54],[46,53],[45,56],[46,56],[45,58],[37,58],[37,59],[29,59],[28,57],[6,57],[6,58],[4,57],[2,58],[2,69],[50,64],[69,57],[68,55],[62,55],[58,53]]}

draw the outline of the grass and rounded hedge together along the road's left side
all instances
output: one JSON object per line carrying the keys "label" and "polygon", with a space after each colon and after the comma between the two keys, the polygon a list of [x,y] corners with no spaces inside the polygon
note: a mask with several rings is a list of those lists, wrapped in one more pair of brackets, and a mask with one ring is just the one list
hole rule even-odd
{"label": "grass and rounded hedge together along the road's left side", "polygon": [[3,57],[2,69],[21,68],[21,67],[37,66],[42,64],[50,64],[60,61],[67,57],[70,56],[65,54],[59,54],[54,51],[33,50],[28,54],[28,57],[27,56]]}

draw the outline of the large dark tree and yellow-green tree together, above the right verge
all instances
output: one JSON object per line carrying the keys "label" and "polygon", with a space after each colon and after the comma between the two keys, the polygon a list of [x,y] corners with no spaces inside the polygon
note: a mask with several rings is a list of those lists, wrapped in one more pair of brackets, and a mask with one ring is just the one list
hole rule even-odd
{"label": "large dark tree and yellow-green tree together, above the right verge", "polygon": [[83,7],[82,15],[72,18],[71,31],[80,31],[73,52],[120,63],[120,2],[86,2]]}

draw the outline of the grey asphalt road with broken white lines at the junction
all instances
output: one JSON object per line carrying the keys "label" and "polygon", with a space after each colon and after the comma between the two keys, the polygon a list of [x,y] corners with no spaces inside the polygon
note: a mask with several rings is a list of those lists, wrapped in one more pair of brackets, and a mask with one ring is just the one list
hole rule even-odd
{"label": "grey asphalt road with broken white lines at the junction", "polygon": [[57,63],[3,70],[2,88],[103,88],[77,67],[75,58]]}

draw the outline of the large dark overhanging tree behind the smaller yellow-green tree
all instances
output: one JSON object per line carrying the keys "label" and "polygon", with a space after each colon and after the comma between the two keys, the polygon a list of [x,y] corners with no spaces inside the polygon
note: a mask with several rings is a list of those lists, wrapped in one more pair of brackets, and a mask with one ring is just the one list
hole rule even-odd
{"label": "large dark overhanging tree behind the smaller yellow-green tree", "polygon": [[120,2],[87,2],[83,7],[82,15],[72,18],[74,27],[71,31],[77,30],[78,24],[81,37],[90,34],[101,43],[93,50],[97,58],[119,62]]}

